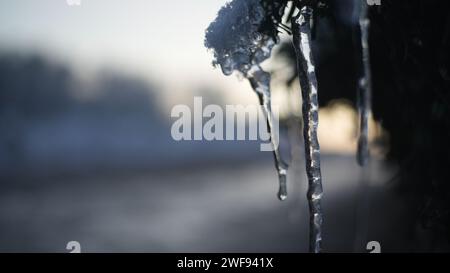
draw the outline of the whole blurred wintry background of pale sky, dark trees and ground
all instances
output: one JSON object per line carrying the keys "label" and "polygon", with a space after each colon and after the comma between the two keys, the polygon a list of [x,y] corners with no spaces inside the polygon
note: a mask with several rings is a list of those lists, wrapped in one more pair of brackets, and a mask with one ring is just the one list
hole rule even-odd
{"label": "whole blurred wintry background of pale sky, dark trees and ground", "polygon": [[[257,104],[250,85],[214,69],[203,46],[225,2],[1,1],[1,252],[67,252],[69,241],[82,252],[307,251],[298,83],[286,87],[274,73],[281,137],[293,148],[285,202],[258,141],[170,135],[172,107],[194,96]],[[327,41],[319,37],[316,49],[329,52]],[[282,69],[280,58],[267,67]],[[370,164],[356,164],[353,105],[327,99],[320,110],[324,251],[368,252],[369,241],[382,251],[427,250],[426,232],[406,232],[411,217],[389,183],[396,166],[384,160],[379,123],[371,122]]]}

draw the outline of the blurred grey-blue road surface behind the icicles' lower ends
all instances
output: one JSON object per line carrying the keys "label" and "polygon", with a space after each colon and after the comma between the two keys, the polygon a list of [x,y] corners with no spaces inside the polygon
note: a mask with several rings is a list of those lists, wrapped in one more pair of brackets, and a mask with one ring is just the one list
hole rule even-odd
{"label": "blurred grey-blue road surface behind the icicles' lower ends", "polygon": [[[285,202],[269,159],[2,185],[0,251],[67,252],[72,240],[83,252],[307,251],[306,176],[294,166]],[[361,170],[353,156],[328,155],[322,169],[325,251],[365,251],[366,240],[407,249],[403,208],[383,186],[391,174],[380,162]],[[361,179],[370,193],[361,195]]]}

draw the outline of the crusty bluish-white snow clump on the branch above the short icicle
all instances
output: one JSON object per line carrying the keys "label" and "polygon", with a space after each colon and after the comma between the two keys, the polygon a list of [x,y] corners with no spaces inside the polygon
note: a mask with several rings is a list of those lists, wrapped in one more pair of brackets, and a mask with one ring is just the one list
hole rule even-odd
{"label": "crusty bluish-white snow clump on the branch above the short icicle", "polygon": [[225,75],[239,71],[247,77],[254,65],[270,57],[277,38],[267,27],[268,11],[264,3],[233,0],[222,7],[206,30],[205,46],[213,51],[213,64],[220,65]]}

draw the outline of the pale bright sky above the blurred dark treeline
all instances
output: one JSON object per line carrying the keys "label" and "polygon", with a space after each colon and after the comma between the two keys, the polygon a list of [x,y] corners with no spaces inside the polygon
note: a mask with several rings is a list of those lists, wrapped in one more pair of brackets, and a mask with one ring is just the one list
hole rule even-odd
{"label": "pale bright sky above the blurred dark treeline", "polygon": [[81,76],[116,68],[178,92],[209,83],[233,96],[253,96],[245,94],[246,83],[213,69],[203,46],[204,31],[226,0],[67,2],[0,1],[0,48],[44,53]]}

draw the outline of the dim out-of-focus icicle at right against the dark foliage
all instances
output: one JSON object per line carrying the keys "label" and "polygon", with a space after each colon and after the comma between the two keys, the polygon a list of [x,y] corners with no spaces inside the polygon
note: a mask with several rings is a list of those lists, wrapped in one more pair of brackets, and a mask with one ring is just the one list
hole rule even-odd
{"label": "dim out-of-focus icicle at right against the dark foliage", "polygon": [[360,115],[359,139],[358,139],[358,164],[364,166],[369,160],[369,113],[371,111],[371,72],[369,56],[369,26],[367,4],[365,1],[359,1],[359,27],[361,30],[361,49],[362,49],[362,67],[363,72],[359,80],[358,92],[358,110]]}

